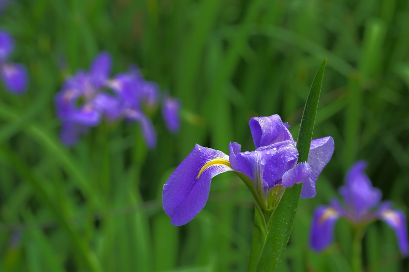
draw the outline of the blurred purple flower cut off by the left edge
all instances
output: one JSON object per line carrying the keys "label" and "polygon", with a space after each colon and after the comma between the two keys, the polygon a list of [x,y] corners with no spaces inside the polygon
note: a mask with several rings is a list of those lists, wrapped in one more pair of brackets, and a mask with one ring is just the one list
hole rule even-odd
{"label": "blurred purple flower cut off by the left edge", "polygon": [[7,90],[21,94],[27,87],[27,71],[22,64],[7,62],[14,42],[6,31],[0,31],[0,74]]}

